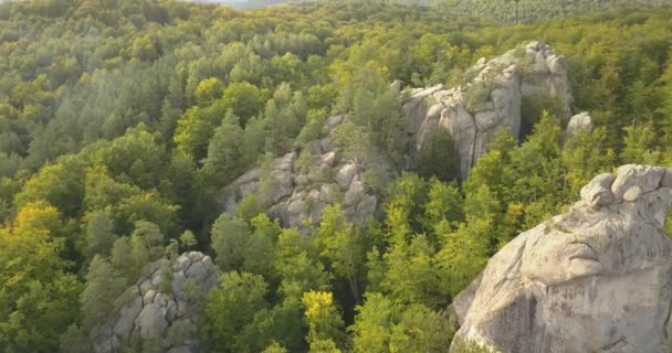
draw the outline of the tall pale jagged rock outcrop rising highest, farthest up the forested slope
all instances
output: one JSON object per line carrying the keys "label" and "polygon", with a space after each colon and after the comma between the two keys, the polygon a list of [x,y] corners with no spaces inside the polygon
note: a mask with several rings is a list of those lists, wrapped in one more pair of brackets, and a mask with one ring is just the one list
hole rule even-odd
{"label": "tall pale jagged rock outcrop rising highest, farthest up the forested slope", "polygon": [[416,149],[422,149],[428,132],[443,129],[459,151],[462,179],[498,130],[519,136],[524,96],[554,97],[570,116],[567,63],[549,45],[532,42],[491,61],[481,58],[464,77],[455,88],[413,89],[403,104],[414,127]]}

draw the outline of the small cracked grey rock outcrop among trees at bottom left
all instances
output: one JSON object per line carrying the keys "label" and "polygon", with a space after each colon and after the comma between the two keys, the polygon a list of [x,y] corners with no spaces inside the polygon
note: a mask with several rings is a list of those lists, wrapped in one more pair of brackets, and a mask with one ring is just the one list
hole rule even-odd
{"label": "small cracked grey rock outcrop among trees at bottom left", "polygon": [[148,340],[160,352],[200,352],[196,304],[217,282],[218,270],[201,253],[183,254],[172,264],[151,264],[149,275],[117,300],[116,314],[92,330],[95,352],[120,352]]}

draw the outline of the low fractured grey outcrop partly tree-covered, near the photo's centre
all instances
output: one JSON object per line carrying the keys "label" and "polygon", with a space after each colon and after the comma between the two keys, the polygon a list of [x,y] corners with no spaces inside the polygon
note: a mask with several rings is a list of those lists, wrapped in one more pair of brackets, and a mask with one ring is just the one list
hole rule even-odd
{"label": "low fractured grey outcrop partly tree-covered, near the photo's centre", "polygon": [[[269,215],[285,227],[300,229],[306,228],[306,220],[317,224],[324,207],[334,203],[340,203],[344,214],[355,223],[372,215],[379,200],[365,184],[366,167],[344,158],[332,143],[343,119],[343,116],[327,119],[325,137],[308,148],[307,161],[300,161],[300,153],[293,151],[273,160],[267,170],[254,169],[233,181],[220,197],[223,210],[233,212],[242,200],[254,194]],[[382,154],[371,164],[395,174]]]}

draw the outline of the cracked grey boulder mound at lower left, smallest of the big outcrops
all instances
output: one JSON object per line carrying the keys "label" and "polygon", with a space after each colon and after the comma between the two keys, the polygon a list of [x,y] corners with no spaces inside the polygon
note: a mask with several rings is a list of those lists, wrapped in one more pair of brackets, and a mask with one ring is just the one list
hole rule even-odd
{"label": "cracked grey boulder mound at lower left, smallest of the big outcrops", "polygon": [[[112,315],[108,322],[92,328],[91,340],[96,353],[117,352],[122,347],[122,342],[127,342],[132,338],[147,339],[158,338],[161,342],[161,352],[166,352],[169,346],[166,334],[172,323],[178,320],[197,321],[196,306],[191,302],[192,298],[186,298],[182,287],[187,280],[200,284],[200,298],[210,291],[219,278],[219,272],[212,265],[209,256],[201,253],[191,252],[179,256],[172,264],[167,260],[158,260],[148,266],[150,272],[138,280],[138,286],[144,286],[140,290],[138,286],[129,288],[119,299],[119,310]],[[165,268],[174,271],[172,293],[164,293],[159,290],[161,272]],[[180,282],[176,286],[176,282]],[[176,290],[178,289],[178,290]],[[170,352],[199,352],[198,340],[196,336],[188,338],[185,342],[177,342],[178,351]],[[183,351],[188,349],[189,351]]]}

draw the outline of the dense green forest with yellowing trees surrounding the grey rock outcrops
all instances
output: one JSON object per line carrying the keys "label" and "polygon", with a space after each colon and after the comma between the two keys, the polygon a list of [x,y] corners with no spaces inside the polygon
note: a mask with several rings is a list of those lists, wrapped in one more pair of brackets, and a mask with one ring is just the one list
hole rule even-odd
{"label": "dense green forest with yellowing trees surrounding the grey rock outcrops", "polygon": [[[521,0],[480,19],[495,1],[468,17],[465,2],[0,4],[0,352],[92,352],[117,297],[190,250],[221,270],[185,329],[208,352],[445,352],[451,298],[498,248],[599,172],[672,165],[672,8]],[[595,131],[565,137],[533,101],[526,138],[500,133],[465,181],[450,163],[406,168],[389,84],[450,87],[532,40],[567,57],[573,109]],[[335,115],[357,132],[345,145],[389,151],[399,173],[365,180],[379,217],[334,204],[306,234],[254,199],[222,213],[223,188],[308,148]]]}

